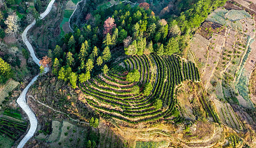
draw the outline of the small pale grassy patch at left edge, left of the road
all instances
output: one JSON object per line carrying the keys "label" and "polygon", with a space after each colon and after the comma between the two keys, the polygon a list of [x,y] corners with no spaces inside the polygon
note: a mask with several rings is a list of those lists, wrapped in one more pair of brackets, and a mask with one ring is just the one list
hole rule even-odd
{"label": "small pale grassy patch at left edge, left of the road", "polygon": [[9,96],[9,92],[11,92],[19,84],[20,84],[19,82],[11,80],[6,85],[3,86],[3,88],[0,90],[0,104],[2,104],[5,97]]}

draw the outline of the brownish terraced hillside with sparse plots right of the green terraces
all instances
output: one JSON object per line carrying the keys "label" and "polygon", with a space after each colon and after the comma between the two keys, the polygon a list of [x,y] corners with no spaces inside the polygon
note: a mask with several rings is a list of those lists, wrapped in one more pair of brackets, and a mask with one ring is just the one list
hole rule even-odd
{"label": "brownish terraced hillside with sparse plots right of the green terraces", "polygon": [[249,9],[242,2],[217,8],[192,38],[188,54],[202,74],[202,84],[221,122],[239,130],[244,129],[240,121],[244,118],[237,116],[230,104],[254,108],[248,85],[256,62],[256,28],[255,12]]}

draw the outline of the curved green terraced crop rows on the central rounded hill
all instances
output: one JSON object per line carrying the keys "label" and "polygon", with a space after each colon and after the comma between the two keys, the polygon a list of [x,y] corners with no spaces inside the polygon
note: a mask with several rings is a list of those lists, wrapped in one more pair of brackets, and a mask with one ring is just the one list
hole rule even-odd
{"label": "curved green terraced crop rows on the central rounded hill", "polygon": [[[138,82],[126,80],[128,72],[133,69],[138,69],[140,73]],[[159,57],[152,54],[128,58],[108,74],[100,74],[80,84],[80,89],[87,95],[87,103],[108,118],[129,123],[155,121],[159,118],[179,121],[179,113],[174,110],[174,90],[184,80],[200,81],[194,63],[181,61],[174,55]],[[148,96],[143,94],[146,83],[153,86]],[[139,93],[134,94],[133,90],[137,86]],[[162,107],[156,107],[157,100],[162,101]]]}

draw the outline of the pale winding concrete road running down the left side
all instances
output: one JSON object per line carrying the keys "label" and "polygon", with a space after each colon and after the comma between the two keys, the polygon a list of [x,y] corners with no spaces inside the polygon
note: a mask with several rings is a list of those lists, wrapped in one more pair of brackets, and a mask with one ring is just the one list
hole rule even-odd
{"label": "pale winding concrete road running down the left side", "polygon": [[[51,2],[48,4],[48,6],[46,8],[46,11],[44,11],[42,14],[40,14],[41,19],[43,19],[47,14],[49,14],[49,12],[51,11],[51,8],[52,8],[54,2],[55,2],[55,0],[51,0]],[[27,38],[28,30],[31,27],[33,27],[35,24],[36,24],[36,21],[34,20],[30,25],[28,25],[28,27],[26,27],[26,29],[22,33],[22,40],[26,44],[26,46],[28,47],[28,50],[30,52],[30,56],[33,58],[33,61],[38,66],[40,66],[40,63],[39,63],[40,60],[38,60],[38,58],[36,57],[36,55],[34,53],[34,49],[31,46],[31,44],[29,43],[28,38]],[[45,69],[45,73],[46,72],[48,72],[48,69]],[[26,103],[26,93],[28,92],[28,89],[30,88],[30,86],[37,80],[38,76],[39,75],[37,75],[36,77],[34,77],[31,80],[31,82],[26,86],[26,88],[23,90],[23,92],[20,94],[19,98],[17,99],[17,103],[26,112],[26,114],[28,115],[29,122],[30,122],[30,128],[28,130],[28,133],[20,141],[20,143],[17,146],[17,148],[23,148],[23,146],[34,135],[34,133],[35,133],[35,131],[37,129],[37,118],[34,115],[34,113],[32,112],[32,110],[29,108],[28,104]]]}

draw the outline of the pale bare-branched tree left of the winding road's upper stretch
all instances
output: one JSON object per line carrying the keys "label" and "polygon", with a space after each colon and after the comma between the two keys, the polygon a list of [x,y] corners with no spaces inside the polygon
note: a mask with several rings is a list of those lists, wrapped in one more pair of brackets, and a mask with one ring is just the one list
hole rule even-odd
{"label": "pale bare-branched tree left of the winding road's upper stretch", "polygon": [[9,15],[4,23],[7,25],[5,32],[7,34],[14,33],[17,37],[17,32],[20,30],[20,19],[18,16],[16,14]]}

